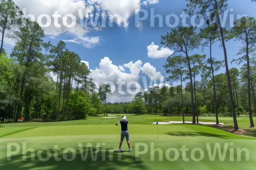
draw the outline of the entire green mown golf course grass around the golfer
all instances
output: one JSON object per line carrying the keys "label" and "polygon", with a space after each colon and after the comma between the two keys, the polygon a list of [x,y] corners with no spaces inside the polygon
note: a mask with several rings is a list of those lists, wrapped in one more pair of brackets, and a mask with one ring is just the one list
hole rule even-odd
{"label": "entire green mown golf course grass around the golfer", "polygon": [[[201,125],[153,125],[182,117],[126,115],[132,151],[118,153],[118,118],[89,117],[68,122],[6,124],[0,128],[0,168],[3,170],[253,170],[255,141]],[[229,117],[228,117],[229,118]],[[191,117],[186,117],[191,121]],[[200,117],[200,121],[214,121]],[[247,126],[247,117],[238,119]],[[220,122],[232,125],[221,117]],[[158,136],[159,133],[159,144]],[[55,148],[55,149],[53,149]],[[58,148],[58,152],[56,152]],[[182,148],[187,151],[183,152]],[[219,156],[214,148],[224,154]],[[126,142],[122,149],[128,150]],[[240,152],[241,149],[243,150]],[[27,153],[23,153],[29,150]],[[15,153],[15,151],[17,151]],[[31,154],[35,153],[35,154]],[[248,151],[248,152],[247,152]],[[9,157],[7,153],[13,153]],[[185,154],[186,153],[186,154]],[[213,154],[213,155],[212,155]],[[35,158],[35,160],[34,160]],[[60,159],[60,160],[59,160]]]}

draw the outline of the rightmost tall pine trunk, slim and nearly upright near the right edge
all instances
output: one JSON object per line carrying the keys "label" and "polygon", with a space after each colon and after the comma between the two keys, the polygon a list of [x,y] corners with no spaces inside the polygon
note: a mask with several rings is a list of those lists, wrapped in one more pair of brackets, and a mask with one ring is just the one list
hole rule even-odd
{"label": "rightmost tall pine trunk, slim and nearly upright near the right edge", "polygon": [[[245,30],[246,31],[246,30]],[[249,61],[249,42],[248,42],[248,35],[246,31],[246,60],[247,60],[247,95],[248,95],[248,111],[250,117],[250,127],[254,127],[253,123],[253,113],[251,108],[251,98],[250,98],[250,61]]]}

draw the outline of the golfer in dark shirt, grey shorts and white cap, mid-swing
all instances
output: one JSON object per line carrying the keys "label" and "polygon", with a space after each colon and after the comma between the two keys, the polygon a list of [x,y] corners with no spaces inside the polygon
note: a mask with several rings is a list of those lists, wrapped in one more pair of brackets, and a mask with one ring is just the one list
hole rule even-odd
{"label": "golfer in dark shirt, grey shorts and white cap, mid-swing", "polygon": [[128,121],[126,120],[125,116],[122,116],[122,120],[120,121],[121,124],[121,140],[119,144],[119,150],[118,152],[122,152],[123,150],[121,149],[122,142],[124,139],[126,139],[128,147],[129,147],[129,152],[131,152],[131,146],[130,146],[130,141],[129,141],[129,132],[128,132]]}

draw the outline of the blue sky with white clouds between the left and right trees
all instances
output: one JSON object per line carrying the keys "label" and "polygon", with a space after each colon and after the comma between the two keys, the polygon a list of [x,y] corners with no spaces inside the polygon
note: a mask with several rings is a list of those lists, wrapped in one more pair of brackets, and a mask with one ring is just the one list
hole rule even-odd
{"label": "blue sky with white clouds between the left and right trees", "polygon": [[[70,51],[76,52],[82,60],[89,63],[90,69],[93,71],[92,77],[97,77],[98,79],[96,78],[96,81],[99,83],[101,83],[101,79],[110,75],[111,77],[109,79],[111,79],[111,81],[127,76],[128,78],[125,79],[125,84],[127,84],[128,81],[137,81],[142,88],[144,88],[142,82],[143,76],[146,77],[148,83],[150,81],[150,75],[166,76],[163,65],[166,62],[168,51],[162,51],[162,53],[160,53],[161,51],[157,51],[157,54],[155,55],[161,55],[163,58],[154,59],[148,57],[147,47],[154,42],[154,45],[159,45],[158,50],[160,50],[160,48],[162,48],[162,45],[160,44],[161,35],[166,35],[171,28],[166,26],[166,24],[163,24],[163,27],[159,27],[158,19],[155,20],[154,27],[151,27],[151,8],[154,9],[155,14],[160,14],[163,18],[169,14],[177,15],[180,20],[179,25],[182,25],[184,22],[180,17],[180,14],[182,14],[183,9],[186,8],[186,0],[147,0],[144,3],[144,0],[109,0],[108,2],[106,0],[57,0],[57,3],[53,3],[52,0],[37,2],[36,0],[29,1],[30,2],[28,2],[28,0],[15,0],[15,3],[17,3],[20,8],[26,8],[26,13],[34,14],[35,18],[43,13],[51,15],[57,10],[60,11],[60,13],[61,10],[63,10],[64,12],[62,11],[61,14],[64,14],[65,12],[68,14],[68,12],[70,12],[77,16],[77,14],[75,14],[77,13],[77,8],[83,9],[93,7],[94,11],[92,10],[91,14],[95,14],[94,12],[96,8],[104,8],[109,14],[114,14],[115,12],[115,14],[120,14],[122,17],[122,22],[120,22],[122,25],[121,27],[118,27],[115,22],[113,23],[113,27],[99,27],[90,30],[80,28],[79,23],[77,23],[78,27],[70,29],[63,28],[65,30],[61,29],[63,26],[58,30],[55,30],[54,27],[49,27],[45,28],[47,35],[45,41],[51,41],[52,44],[56,45],[59,40],[65,40],[67,48]],[[146,2],[147,6],[145,6]],[[235,20],[237,14],[247,14],[250,17],[256,17],[256,3],[252,3],[251,0],[229,0],[228,4],[228,9],[233,8],[233,12],[228,12],[228,19],[225,25],[226,28],[229,28],[229,17],[232,17],[230,14],[234,15]],[[42,6],[45,6],[47,9]],[[139,9],[145,9],[149,14],[147,20],[142,21],[142,28],[136,27],[138,23],[135,22],[137,15],[134,14],[134,11],[135,9],[138,9],[138,7]],[[65,8],[67,8],[66,11],[64,10]],[[186,23],[190,24],[189,18]],[[124,26],[125,24],[127,26]],[[86,40],[81,39],[81,37]],[[15,42],[12,40],[7,40],[4,45],[6,51],[10,52],[14,43]],[[224,59],[223,49],[218,45],[219,44],[215,44],[214,46],[213,56],[218,59]],[[233,40],[227,42],[227,54],[230,68],[241,67],[241,65],[230,63],[232,59],[237,58],[236,53],[239,51],[239,47],[241,47],[241,42]],[[194,51],[191,51],[190,54],[207,54],[208,57],[209,50],[205,49],[203,53],[201,48],[195,49]],[[103,61],[101,62],[102,59]],[[140,60],[140,62],[137,62],[138,60]],[[112,64],[110,61],[112,61]],[[101,66],[99,65],[100,62]],[[135,64],[136,62],[137,64]],[[149,64],[144,65],[145,63]],[[125,67],[125,64],[128,65]],[[124,67],[125,71],[118,70],[117,67],[119,65]],[[140,67],[144,69],[136,70],[136,68],[140,69]],[[98,70],[96,70],[96,68],[98,68]],[[155,69],[155,71],[152,71],[152,68],[153,70]],[[112,70],[112,72],[106,70]],[[224,72],[225,68],[222,68],[218,73]],[[197,79],[200,79],[200,77]],[[108,80],[108,78],[105,80]],[[134,95],[131,94],[121,96],[116,94],[110,97],[110,100],[111,102],[125,102],[131,100],[133,96]]]}

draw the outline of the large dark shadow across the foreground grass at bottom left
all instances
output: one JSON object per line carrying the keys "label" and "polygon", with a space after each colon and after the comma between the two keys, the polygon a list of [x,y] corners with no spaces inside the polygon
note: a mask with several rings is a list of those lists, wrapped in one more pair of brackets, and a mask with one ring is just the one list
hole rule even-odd
{"label": "large dark shadow across the foreground grass at bottom left", "polygon": [[[81,150],[82,149],[82,150]],[[11,161],[0,160],[0,169],[3,170],[119,170],[119,169],[137,169],[147,170],[143,161],[135,159],[134,152],[119,153],[113,148],[98,148],[96,154],[96,147],[82,147],[77,148],[75,152],[67,152],[63,154],[64,148],[58,151],[55,155],[54,150],[49,149],[50,154],[43,151],[41,157],[46,159],[50,156],[48,161],[38,159],[38,150],[35,150],[35,161],[31,161],[31,153],[26,155],[27,161],[23,161],[24,156],[22,153],[11,157]],[[88,152],[86,151],[88,150]],[[64,155],[70,159],[75,157],[73,161],[64,159]],[[32,156],[33,157],[33,156]],[[61,159],[57,161],[55,158]]]}

